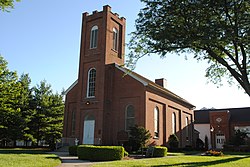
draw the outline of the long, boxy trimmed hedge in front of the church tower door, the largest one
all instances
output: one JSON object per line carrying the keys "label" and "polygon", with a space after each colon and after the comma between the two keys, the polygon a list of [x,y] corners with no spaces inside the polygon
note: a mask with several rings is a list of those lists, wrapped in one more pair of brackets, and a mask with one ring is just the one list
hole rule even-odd
{"label": "long, boxy trimmed hedge in front of the church tower door, the largest one", "polygon": [[124,157],[122,146],[81,145],[77,149],[79,159],[91,161],[121,160]]}

